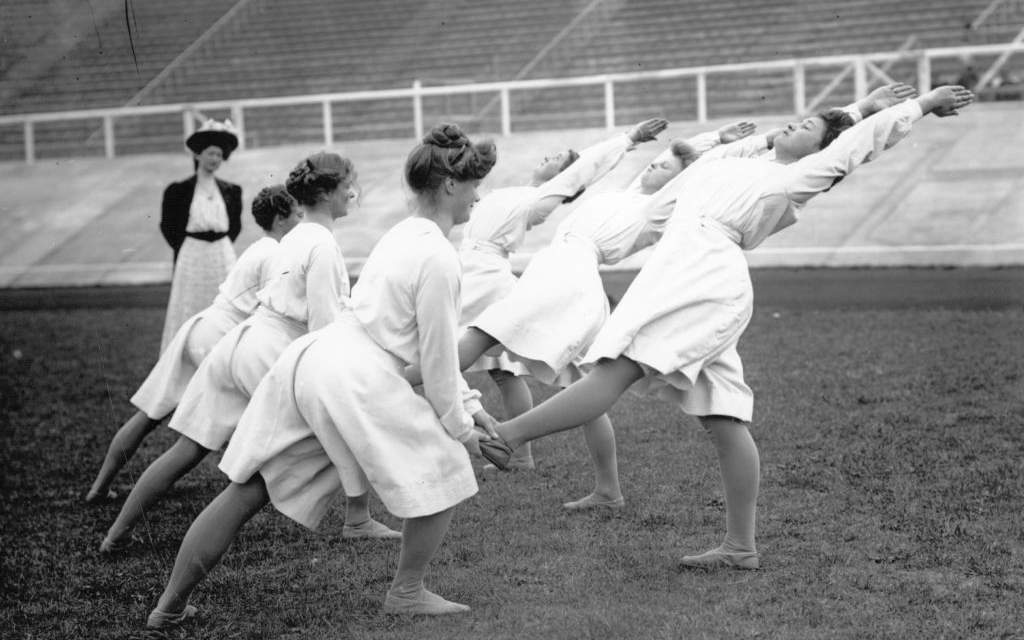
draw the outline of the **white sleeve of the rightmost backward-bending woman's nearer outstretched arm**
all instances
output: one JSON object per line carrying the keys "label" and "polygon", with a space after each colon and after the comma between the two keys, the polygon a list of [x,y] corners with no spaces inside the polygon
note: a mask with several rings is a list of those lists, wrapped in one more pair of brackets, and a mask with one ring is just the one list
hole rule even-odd
{"label": "white sleeve of the rightmost backward-bending woman's nearer outstretched arm", "polygon": [[798,205],[827,190],[836,180],[902,140],[923,117],[916,100],[883,110],[840,134],[831,144],[788,166],[785,190]]}

